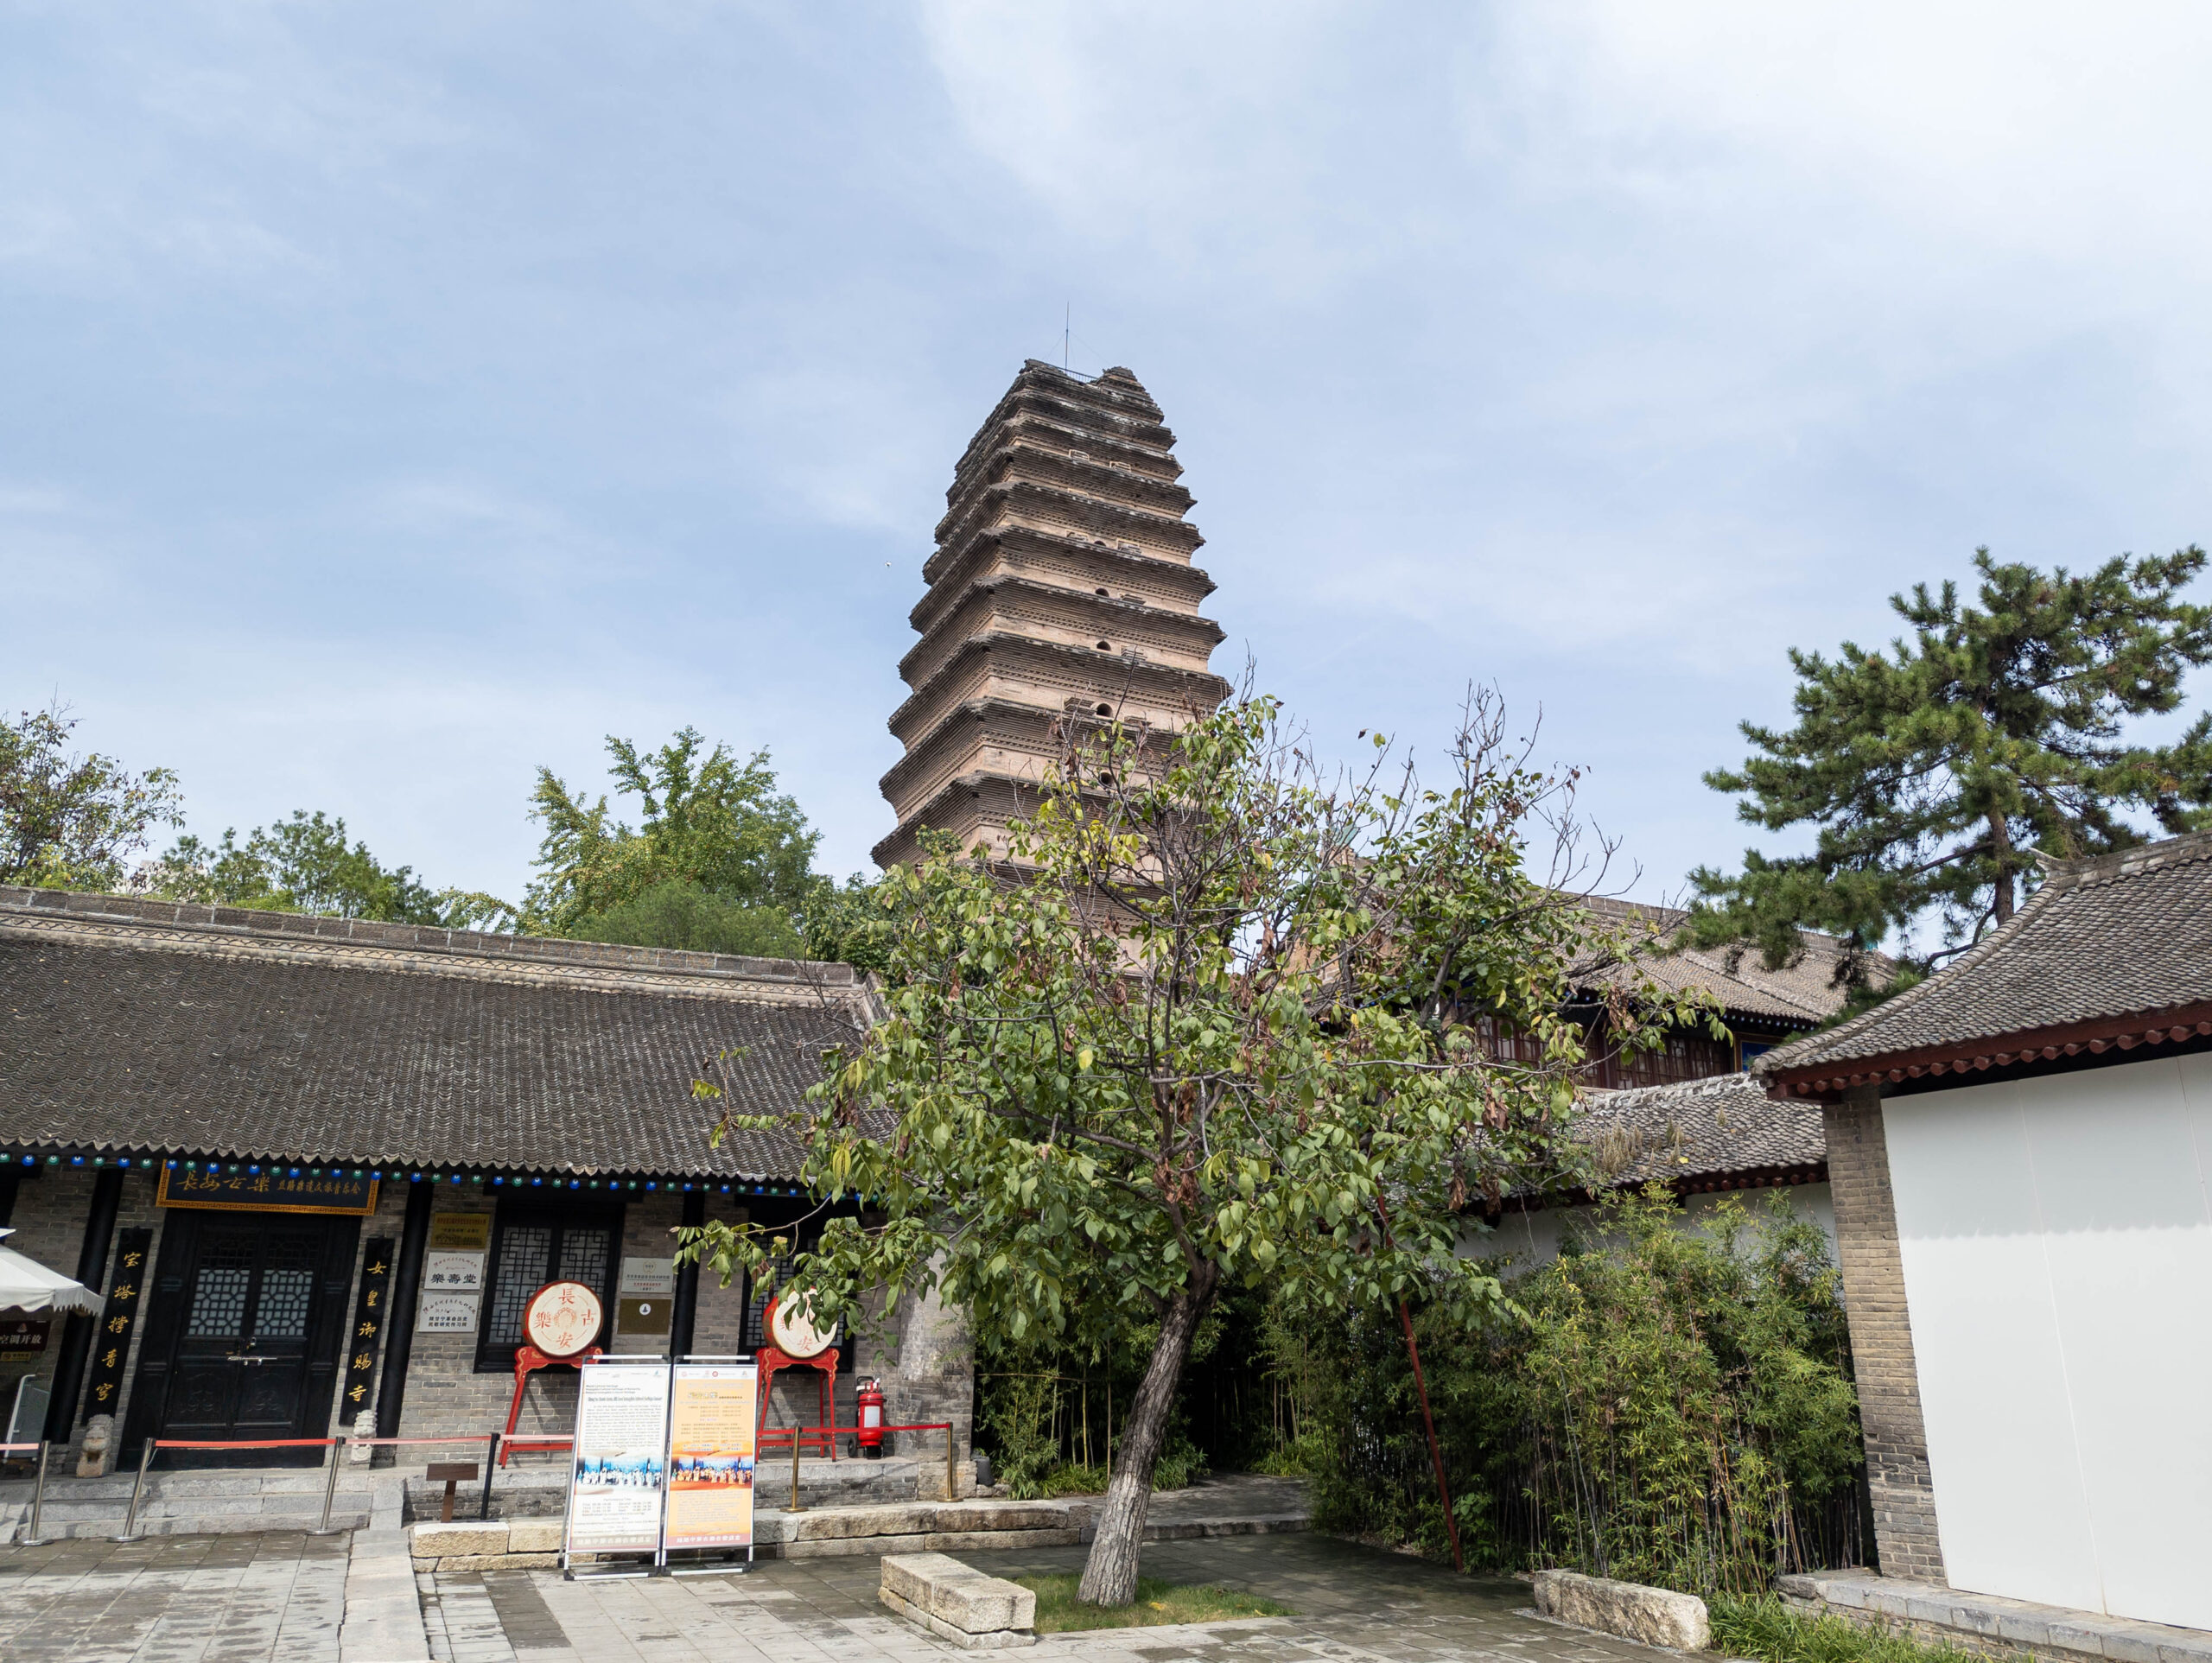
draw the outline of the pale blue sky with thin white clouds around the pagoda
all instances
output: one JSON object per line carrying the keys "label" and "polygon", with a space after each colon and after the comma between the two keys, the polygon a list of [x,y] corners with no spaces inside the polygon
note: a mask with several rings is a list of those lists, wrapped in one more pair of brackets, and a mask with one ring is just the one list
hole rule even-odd
{"label": "pale blue sky with thin white clouds around the pagoda", "polygon": [[0,4],[0,701],[515,893],[538,763],[865,865],[953,458],[1137,372],[1352,752],[1544,714],[1659,898],[1787,646],[2212,537],[2188,7]]}

